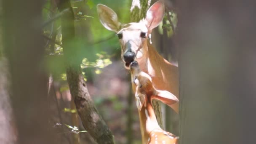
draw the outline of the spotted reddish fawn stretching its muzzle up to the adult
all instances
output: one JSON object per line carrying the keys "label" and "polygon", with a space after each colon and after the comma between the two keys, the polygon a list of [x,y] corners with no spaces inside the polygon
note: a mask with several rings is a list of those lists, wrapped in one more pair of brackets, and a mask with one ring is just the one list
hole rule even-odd
{"label": "spotted reddish fawn stretching its muzzle up to the adult", "polygon": [[168,106],[179,100],[168,91],[157,90],[152,84],[151,77],[141,71],[137,61],[131,62],[130,69],[131,81],[136,89],[135,99],[139,112],[142,144],[177,144],[179,137],[164,131],[158,125],[152,108],[152,99],[160,100]]}

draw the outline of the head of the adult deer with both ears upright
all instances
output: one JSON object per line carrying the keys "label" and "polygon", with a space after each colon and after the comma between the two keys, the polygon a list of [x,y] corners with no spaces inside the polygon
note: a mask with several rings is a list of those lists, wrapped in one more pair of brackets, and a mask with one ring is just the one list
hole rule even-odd
{"label": "head of the adult deer with both ears upright", "polygon": [[117,14],[106,5],[98,4],[97,11],[101,24],[117,33],[122,49],[121,58],[125,62],[126,69],[130,69],[129,65],[132,61],[139,60],[147,54],[147,38],[152,29],[163,20],[165,14],[161,1],[157,1],[149,8],[145,19],[128,24],[121,24]]}

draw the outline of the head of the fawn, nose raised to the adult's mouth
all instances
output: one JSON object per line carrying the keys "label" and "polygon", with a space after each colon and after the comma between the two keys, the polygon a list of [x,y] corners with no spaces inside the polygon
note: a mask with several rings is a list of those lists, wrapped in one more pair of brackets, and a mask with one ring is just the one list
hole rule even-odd
{"label": "head of the fawn, nose raised to the adult's mouth", "polygon": [[169,91],[155,89],[154,85],[152,84],[151,77],[147,73],[140,70],[137,61],[131,62],[130,69],[132,82],[136,85],[136,106],[139,110],[141,110],[143,105],[147,105],[145,103],[147,100],[151,102],[152,99],[158,99],[168,106],[179,101],[177,97]]}

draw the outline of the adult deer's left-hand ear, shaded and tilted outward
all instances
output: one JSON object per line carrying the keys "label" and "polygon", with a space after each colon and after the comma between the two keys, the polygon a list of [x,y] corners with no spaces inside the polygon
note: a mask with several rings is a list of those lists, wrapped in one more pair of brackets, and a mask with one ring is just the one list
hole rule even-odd
{"label": "adult deer's left-hand ear, shaded and tilted outward", "polygon": [[101,24],[108,30],[118,32],[121,23],[118,22],[117,14],[111,8],[107,7],[106,5],[98,4],[97,5],[97,12],[99,16],[99,20]]}

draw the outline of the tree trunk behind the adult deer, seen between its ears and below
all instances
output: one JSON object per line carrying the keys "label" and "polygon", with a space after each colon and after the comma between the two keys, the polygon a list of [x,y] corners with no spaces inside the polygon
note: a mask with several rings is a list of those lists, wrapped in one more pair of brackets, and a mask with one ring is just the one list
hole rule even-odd
{"label": "tree trunk behind the adult deer, seen between its ears and below", "polygon": [[[139,22],[146,17],[151,0],[133,0],[131,4],[131,22]],[[153,108],[157,117],[157,122],[163,128],[161,103],[160,101],[153,100]]]}

